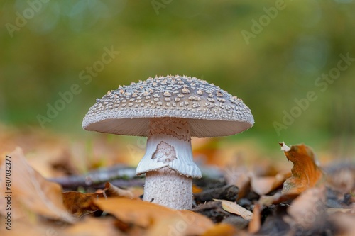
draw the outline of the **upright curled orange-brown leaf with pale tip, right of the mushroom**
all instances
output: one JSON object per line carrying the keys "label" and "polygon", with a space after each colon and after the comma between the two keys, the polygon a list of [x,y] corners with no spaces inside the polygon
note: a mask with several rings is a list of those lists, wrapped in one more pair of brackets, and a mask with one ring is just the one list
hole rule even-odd
{"label": "upright curled orange-brown leaf with pale tip, right of the mushroom", "polygon": [[285,142],[280,143],[288,160],[293,162],[292,176],[283,184],[282,193],[300,194],[321,179],[323,173],[316,163],[315,154],[306,145],[293,145],[288,147]]}

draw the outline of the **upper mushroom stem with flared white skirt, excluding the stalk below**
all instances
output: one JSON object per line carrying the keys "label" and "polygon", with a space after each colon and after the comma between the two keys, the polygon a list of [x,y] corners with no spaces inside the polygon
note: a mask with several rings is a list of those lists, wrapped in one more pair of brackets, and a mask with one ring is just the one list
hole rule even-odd
{"label": "upper mushroom stem with flared white skirt, excluding the stalk below", "polygon": [[187,177],[201,178],[201,171],[192,158],[190,129],[180,118],[151,119],[146,154],[136,174],[169,167]]}

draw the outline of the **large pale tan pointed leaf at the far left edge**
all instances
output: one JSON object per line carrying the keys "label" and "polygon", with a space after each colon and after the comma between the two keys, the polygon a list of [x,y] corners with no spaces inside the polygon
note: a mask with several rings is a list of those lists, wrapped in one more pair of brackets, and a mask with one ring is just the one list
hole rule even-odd
{"label": "large pale tan pointed leaf at the far left edge", "polygon": [[[16,150],[8,156],[11,157],[11,186],[8,191],[11,191],[9,194],[11,194],[12,200],[16,201],[16,204],[12,205],[13,208],[23,206],[32,213],[46,218],[73,223],[75,219],[67,212],[62,203],[60,185],[47,181],[28,165],[20,147],[16,147]],[[1,173],[4,173],[4,169],[5,162],[3,161]],[[0,178],[4,178],[4,174],[1,174]],[[5,183],[4,179],[1,181]],[[1,194],[9,195],[5,191],[1,191]],[[0,198],[1,201],[5,196]],[[16,218],[15,212],[16,210],[13,213],[13,218]]]}

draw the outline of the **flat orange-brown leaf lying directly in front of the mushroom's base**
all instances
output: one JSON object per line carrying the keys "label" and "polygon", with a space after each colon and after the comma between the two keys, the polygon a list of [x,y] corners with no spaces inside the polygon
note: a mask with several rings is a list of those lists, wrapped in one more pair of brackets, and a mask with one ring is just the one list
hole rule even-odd
{"label": "flat orange-brown leaf lying directly in front of the mushroom's base", "polygon": [[183,233],[182,235],[200,235],[213,226],[212,221],[204,215],[190,210],[173,210],[139,199],[98,198],[94,203],[101,210],[111,213],[124,223],[150,227],[151,235],[154,235],[153,232],[168,235],[168,232],[172,231]]}

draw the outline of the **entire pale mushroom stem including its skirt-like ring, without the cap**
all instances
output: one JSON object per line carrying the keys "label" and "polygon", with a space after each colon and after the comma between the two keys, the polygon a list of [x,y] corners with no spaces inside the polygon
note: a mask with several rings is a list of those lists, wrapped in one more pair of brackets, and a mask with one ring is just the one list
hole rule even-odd
{"label": "entire pale mushroom stem including its skirt-like ring, without the cap", "polygon": [[201,177],[192,159],[190,128],[182,118],[153,118],[146,154],[136,174],[146,173],[143,200],[175,209],[192,207],[192,177]]}

